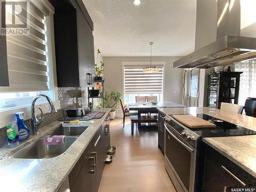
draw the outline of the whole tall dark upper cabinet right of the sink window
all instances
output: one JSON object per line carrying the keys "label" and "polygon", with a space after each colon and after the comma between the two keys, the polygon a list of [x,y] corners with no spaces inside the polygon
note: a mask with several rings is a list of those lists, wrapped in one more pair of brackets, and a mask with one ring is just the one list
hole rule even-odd
{"label": "whole tall dark upper cabinet right of the sink window", "polygon": [[54,36],[58,87],[93,87],[93,22],[81,0],[50,0],[55,7]]}

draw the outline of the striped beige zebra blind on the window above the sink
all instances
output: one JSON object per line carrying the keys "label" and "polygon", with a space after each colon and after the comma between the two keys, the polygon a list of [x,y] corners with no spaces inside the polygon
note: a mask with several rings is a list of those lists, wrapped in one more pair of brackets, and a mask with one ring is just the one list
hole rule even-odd
{"label": "striped beige zebra blind on the window above the sink", "polygon": [[[33,2],[33,1],[32,1]],[[10,87],[0,88],[5,92],[46,91],[48,88],[46,18],[47,8],[38,9],[32,2],[29,9],[22,2],[16,4],[27,10],[27,18],[19,17],[27,23],[29,34],[6,34],[7,61]],[[44,7],[40,4],[40,8]],[[9,18],[6,18],[8,21]],[[8,23],[8,22],[7,22]],[[8,26],[8,25],[7,25]]]}

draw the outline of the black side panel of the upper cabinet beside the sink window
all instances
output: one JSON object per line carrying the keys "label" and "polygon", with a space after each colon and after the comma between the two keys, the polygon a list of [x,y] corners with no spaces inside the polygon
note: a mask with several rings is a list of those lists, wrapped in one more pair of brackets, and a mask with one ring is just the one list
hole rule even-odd
{"label": "black side panel of the upper cabinet beside the sink window", "polygon": [[[51,1],[54,4],[55,1]],[[77,15],[71,6],[55,6],[54,38],[58,87],[79,87]],[[67,14],[69,12],[69,14]]]}

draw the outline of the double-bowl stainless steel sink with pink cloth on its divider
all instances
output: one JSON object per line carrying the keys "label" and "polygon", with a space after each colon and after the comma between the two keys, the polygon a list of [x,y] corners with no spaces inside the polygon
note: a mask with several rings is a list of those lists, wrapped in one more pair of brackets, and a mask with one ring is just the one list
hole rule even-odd
{"label": "double-bowl stainless steel sink with pink cloth on its divider", "polygon": [[61,145],[45,145],[45,136],[30,143],[18,152],[10,156],[10,158],[21,159],[49,159],[61,155],[66,152],[72,143],[84,132],[87,126],[84,127],[63,127],[59,125],[55,130],[48,135],[65,135],[64,143]]}

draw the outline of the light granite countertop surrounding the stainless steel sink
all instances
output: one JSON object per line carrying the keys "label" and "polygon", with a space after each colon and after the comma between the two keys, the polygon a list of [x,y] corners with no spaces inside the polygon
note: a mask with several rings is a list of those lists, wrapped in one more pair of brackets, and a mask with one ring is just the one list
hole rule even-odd
{"label": "light granite countertop surrounding the stainless steel sink", "polygon": [[98,127],[105,120],[110,109],[99,111],[106,113],[102,118],[94,119],[94,123],[78,137],[68,150],[57,157],[50,159],[9,158],[24,146],[54,130],[59,126],[59,121],[41,127],[39,135],[32,136],[16,148],[0,148],[0,191],[58,191],[96,134]]}

